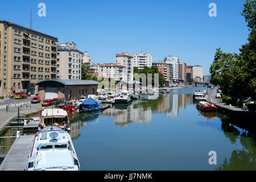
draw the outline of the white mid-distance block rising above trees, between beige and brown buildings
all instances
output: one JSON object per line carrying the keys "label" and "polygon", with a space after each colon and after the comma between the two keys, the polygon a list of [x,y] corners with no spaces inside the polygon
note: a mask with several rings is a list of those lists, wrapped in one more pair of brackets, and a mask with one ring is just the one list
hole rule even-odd
{"label": "white mid-distance block rising above trees, between beige and brown buildings", "polygon": [[152,66],[152,55],[151,53],[134,53],[133,55],[133,67],[137,67],[138,69],[143,69],[144,67]]}

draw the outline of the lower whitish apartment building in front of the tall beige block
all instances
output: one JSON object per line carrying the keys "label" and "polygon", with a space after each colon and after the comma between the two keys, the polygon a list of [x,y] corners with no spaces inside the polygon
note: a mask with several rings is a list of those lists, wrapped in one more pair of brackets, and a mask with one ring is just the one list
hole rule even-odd
{"label": "lower whitish apartment building in front of the tall beige block", "polygon": [[110,78],[115,78],[115,81],[122,80],[125,66],[121,64],[101,64],[99,74]]}

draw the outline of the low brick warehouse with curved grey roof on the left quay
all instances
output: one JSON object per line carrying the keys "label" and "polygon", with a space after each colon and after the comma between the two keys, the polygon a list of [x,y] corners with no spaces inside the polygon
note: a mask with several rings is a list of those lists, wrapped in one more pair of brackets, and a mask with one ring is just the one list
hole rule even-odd
{"label": "low brick warehouse with curved grey roof on the left quay", "polygon": [[42,100],[64,98],[64,101],[96,94],[98,84],[93,80],[43,80],[35,83]]}

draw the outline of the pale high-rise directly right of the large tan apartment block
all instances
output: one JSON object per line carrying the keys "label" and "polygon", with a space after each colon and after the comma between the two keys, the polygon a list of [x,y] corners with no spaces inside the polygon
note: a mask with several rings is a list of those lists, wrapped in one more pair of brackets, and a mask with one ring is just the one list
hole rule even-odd
{"label": "pale high-rise directly right of the large tan apartment block", "polygon": [[57,79],[81,80],[81,63],[84,52],[76,48],[75,43],[58,44],[57,54]]}

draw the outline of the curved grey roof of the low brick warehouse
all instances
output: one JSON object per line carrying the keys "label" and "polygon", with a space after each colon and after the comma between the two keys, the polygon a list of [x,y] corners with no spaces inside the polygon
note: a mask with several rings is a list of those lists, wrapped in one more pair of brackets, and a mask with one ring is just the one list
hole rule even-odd
{"label": "curved grey roof of the low brick warehouse", "polygon": [[100,84],[94,80],[43,80],[35,83],[35,85],[39,85],[40,87],[59,87],[59,85],[64,86],[89,86],[89,85],[98,85]]}

